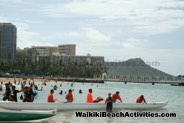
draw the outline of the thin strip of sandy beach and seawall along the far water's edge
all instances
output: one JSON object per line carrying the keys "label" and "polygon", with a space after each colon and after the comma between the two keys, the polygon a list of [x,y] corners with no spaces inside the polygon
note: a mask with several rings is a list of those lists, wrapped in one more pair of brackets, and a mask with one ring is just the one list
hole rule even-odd
{"label": "thin strip of sandy beach and seawall along the far water's edge", "polygon": [[102,80],[102,79],[94,79],[94,78],[65,78],[65,77],[28,77],[28,78],[13,78],[13,77],[0,77],[0,83],[19,83],[19,82],[77,82],[77,83],[105,83],[105,82],[122,82],[124,84],[128,83],[150,83],[152,85],[154,84],[170,84],[170,85],[184,85],[184,81],[152,81],[152,82],[144,82],[144,81],[120,81],[120,80]]}

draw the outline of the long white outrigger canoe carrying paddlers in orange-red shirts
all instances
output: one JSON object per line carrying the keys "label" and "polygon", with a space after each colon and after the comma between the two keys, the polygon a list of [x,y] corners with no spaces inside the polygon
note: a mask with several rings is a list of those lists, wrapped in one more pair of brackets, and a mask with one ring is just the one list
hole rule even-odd
{"label": "long white outrigger canoe carrying paddlers in orange-red shirts", "polygon": [[[156,103],[114,103],[113,109],[130,109],[130,110],[146,110],[146,109],[158,109],[168,104],[165,102]],[[66,110],[105,110],[106,105],[104,103],[16,103],[16,102],[0,102],[0,108],[10,110],[52,110],[57,111]]]}

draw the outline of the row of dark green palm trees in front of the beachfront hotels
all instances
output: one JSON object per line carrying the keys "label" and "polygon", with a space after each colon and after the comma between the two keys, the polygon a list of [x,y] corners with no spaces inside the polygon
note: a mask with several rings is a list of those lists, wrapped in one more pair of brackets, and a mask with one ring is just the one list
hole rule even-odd
{"label": "row of dark green palm trees in front of the beachfront hotels", "polygon": [[100,76],[107,71],[104,65],[77,64],[50,62],[40,60],[32,62],[30,59],[0,62],[0,71],[13,75],[25,76],[60,76],[60,77],[86,77]]}

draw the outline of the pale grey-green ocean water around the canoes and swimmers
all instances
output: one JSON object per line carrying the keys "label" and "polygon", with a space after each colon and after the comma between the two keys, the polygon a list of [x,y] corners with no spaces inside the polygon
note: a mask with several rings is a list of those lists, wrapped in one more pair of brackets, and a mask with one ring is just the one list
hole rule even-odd
{"label": "pale grey-green ocean water around the canoes and swimmers", "polygon": [[[162,102],[169,100],[167,106],[157,110],[146,110],[145,112],[150,113],[175,113],[176,117],[76,117],[76,111],[63,111],[58,112],[56,116],[30,122],[41,122],[41,123],[184,123],[184,87],[182,86],[170,86],[168,84],[140,84],[140,83],[120,83],[120,82],[106,82],[105,84],[90,84],[90,83],[71,83],[68,82],[50,82],[46,86],[41,85],[41,83],[36,83],[39,88],[43,87],[43,91],[39,91],[39,96],[35,102],[46,102],[47,95],[50,89],[54,85],[58,86],[58,89],[54,92],[54,98],[65,101],[65,91],[68,89],[73,90],[74,102],[84,102],[86,101],[86,94],[88,89],[93,89],[93,98],[101,96],[103,98],[107,97],[108,93],[120,92],[120,96],[123,103],[134,103],[139,95],[144,95],[147,102]],[[60,86],[62,84],[62,86]],[[19,87],[17,87],[18,89]],[[82,90],[82,94],[79,94],[79,90]],[[63,91],[63,95],[60,95],[60,90]],[[19,94],[20,96],[20,94]],[[2,95],[0,95],[0,100]],[[21,101],[21,100],[19,100]],[[104,110],[105,111],[105,110]],[[88,111],[82,111],[88,112]],[[93,111],[95,112],[95,111]],[[96,111],[101,112],[101,111]],[[118,110],[113,111],[118,112],[143,112],[137,110]]]}

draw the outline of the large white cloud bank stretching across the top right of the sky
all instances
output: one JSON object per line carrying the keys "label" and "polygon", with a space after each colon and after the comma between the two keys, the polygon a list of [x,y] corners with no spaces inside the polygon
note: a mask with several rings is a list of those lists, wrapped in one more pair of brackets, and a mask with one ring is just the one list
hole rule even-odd
{"label": "large white cloud bank stretching across the top right of the sky", "polygon": [[177,0],[73,0],[44,7],[52,17],[84,16],[130,23],[135,32],[156,35],[184,27],[184,1]]}

